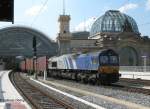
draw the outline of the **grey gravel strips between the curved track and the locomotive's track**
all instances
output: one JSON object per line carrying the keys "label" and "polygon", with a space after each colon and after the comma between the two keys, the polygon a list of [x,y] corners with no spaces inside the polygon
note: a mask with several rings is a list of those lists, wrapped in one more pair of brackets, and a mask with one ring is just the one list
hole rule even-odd
{"label": "grey gravel strips between the curved track and the locomotive's track", "polygon": [[[146,107],[150,107],[150,96],[148,96],[148,95],[111,89],[111,88],[107,88],[104,86],[94,86],[94,85],[89,85],[89,84],[76,83],[75,81],[70,81],[70,80],[57,80],[57,79],[53,79],[53,78],[48,78],[48,80],[59,83],[59,84],[63,84],[66,86],[70,86],[73,88],[77,88],[77,89],[89,91],[92,93],[105,95],[105,96],[129,101],[129,102],[133,102],[136,104],[141,104],[141,105],[146,106]],[[37,85],[37,84],[35,84],[35,85]],[[107,109],[128,109],[128,107],[126,107],[124,105],[115,104],[115,103],[110,102],[110,101],[108,102],[108,101],[100,99],[98,97],[86,96],[84,94],[70,91],[70,90],[62,88],[62,87],[56,87],[56,86],[53,86],[53,87],[55,87],[59,90],[62,90],[64,92],[70,93],[72,95],[75,95],[77,97],[80,97],[80,98],[87,100],[89,102],[92,102],[94,104],[105,107]],[[50,94],[54,95],[55,97],[57,97],[61,100],[67,101],[68,103],[73,105],[76,109],[92,109],[91,107],[89,107],[89,106],[87,106],[87,105],[85,105],[79,101],[73,100],[73,99],[68,98],[64,95],[58,94],[54,91],[49,91],[48,89],[45,89],[45,90],[47,90]]]}

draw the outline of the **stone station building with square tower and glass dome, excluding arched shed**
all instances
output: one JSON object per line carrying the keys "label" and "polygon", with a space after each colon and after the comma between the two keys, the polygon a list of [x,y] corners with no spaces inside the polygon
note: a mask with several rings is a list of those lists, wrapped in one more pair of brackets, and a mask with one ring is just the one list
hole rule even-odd
{"label": "stone station building with square tower and glass dome, excluding arched shed", "polygon": [[118,10],[97,18],[90,32],[70,32],[70,16],[60,15],[57,36],[59,55],[113,49],[121,66],[150,66],[150,38],[141,36],[136,21]]}

